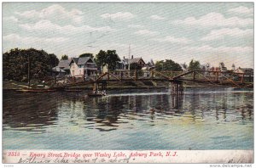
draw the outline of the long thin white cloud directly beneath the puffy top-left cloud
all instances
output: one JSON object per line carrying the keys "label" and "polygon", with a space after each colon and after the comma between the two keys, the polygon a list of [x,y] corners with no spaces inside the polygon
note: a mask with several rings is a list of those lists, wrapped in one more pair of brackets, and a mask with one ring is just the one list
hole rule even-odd
{"label": "long thin white cloud directly beneath the puffy top-left cloud", "polygon": [[61,34],[73,34],[73,33],[83,33],[83,32],[108,32],[108,31],[115,31],[109,26],[104,27],[91,27],[89,25],[82,25],[82,26],[74,26],[74,25],[56,25],[49,20],[39,20],[35,24],[20,24],[21,28],[27,31],[46,31],[51,33],[61,33]]}

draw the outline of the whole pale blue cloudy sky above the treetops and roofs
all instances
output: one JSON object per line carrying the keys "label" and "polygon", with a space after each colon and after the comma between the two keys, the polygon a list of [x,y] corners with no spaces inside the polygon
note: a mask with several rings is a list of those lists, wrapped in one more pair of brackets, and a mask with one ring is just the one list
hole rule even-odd
{"label": "whole pale blue cloudy sky above the treetops and roofs", "polygon": [[114,49],[121,59],[253,68],[253,29],[253,3],[3,3],[3,53]]}

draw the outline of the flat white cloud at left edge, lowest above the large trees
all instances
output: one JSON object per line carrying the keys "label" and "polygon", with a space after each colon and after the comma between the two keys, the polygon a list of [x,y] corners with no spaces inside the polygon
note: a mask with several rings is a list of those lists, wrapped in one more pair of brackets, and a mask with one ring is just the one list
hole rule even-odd
{"label": "flat white cloud at left edge, lowest above the large trees", "polygon": [[9,41],[9,42],[22,42],[26,44],[33,44],[33,43],[47,43],[54,42],[66,42],[68,38],[65,37],[53,37],[53,38],[42,38],[42,37],[36,37],[36,36],[20,36],[18,34],[9,34],[7,36],[3,36],[3,41]]}

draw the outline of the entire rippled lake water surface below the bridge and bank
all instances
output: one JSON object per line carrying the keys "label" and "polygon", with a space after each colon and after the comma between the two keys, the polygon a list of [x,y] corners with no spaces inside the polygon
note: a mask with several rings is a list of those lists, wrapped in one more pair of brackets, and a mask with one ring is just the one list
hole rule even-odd
{"label": "entire rippled lake water surface below the bridge and bank", "polygon": [[253,149],[253,91],[3,91],[3,149]]}

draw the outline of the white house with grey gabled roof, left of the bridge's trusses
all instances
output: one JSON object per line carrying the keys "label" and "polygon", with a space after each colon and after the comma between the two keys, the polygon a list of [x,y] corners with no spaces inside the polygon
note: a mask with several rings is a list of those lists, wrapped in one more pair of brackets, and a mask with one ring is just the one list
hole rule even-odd
{"label": "white house with grey gabled roof, left of the bridge's trusses", "polygon": [[97,66],[90,57],[73,58],[69,64],[71,76],[95,76]]}

